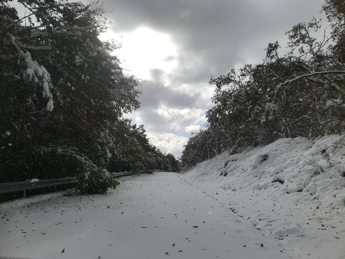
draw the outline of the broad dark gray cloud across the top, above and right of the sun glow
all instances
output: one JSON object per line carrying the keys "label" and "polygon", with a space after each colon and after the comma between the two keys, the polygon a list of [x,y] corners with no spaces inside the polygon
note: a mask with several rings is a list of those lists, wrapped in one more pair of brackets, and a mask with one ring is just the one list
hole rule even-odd
{"label": "broad dark gray cloud across the top, above and right of the sun glow", "polygon": [[115,32],[146,26],[172,37],[179,48],[175,80],[207,83],[210,75],[225,74],[236,64],[258,62],[269,42],[278,39],[284,45],[284,31],[317,16],[322,2],[118,0],[106,5],[114,9]]}

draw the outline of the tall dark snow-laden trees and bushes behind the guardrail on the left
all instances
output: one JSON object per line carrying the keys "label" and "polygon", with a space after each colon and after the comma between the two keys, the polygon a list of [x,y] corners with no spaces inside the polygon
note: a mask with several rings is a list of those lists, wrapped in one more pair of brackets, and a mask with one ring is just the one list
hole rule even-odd
{"label": "tall dark snow-laden trees and bushes behind the guardrail on the left", "polygon": [[0,181],[78,176],[79,190],[98,193],[111,171],[162,169],[165,155],[122,117],[140,105],[139,81],[98,37],[102,4],[23,0],[19,17],[10,3],[0,6]]}

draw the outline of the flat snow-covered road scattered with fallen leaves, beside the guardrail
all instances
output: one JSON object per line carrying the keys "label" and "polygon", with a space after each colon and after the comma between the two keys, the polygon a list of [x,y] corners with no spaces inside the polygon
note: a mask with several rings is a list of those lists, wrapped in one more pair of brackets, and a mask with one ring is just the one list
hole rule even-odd
{"label": "flat snow-covered road scattered with fallen leaves, beside the guardrail", "polygon": [[292,258],[175,173],[120,180],[105,195],[0,204],[0,258]]}

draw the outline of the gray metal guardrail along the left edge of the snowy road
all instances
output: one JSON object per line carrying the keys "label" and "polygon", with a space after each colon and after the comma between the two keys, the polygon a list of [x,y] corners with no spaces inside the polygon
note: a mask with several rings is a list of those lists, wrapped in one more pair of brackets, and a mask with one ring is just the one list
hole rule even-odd
{"label": "gray metal guardrail along the left edge of the snowy road", "polygon": [[[134,174],[131,171],[129,172],[119,172],[119,173],[112,173],[112,177],[119,178],[120,176],[131,175]],[[56,179],[43,179],[43,180],[26,180],[26,181],[18,181],[18,182],[9,182],[9,183],[0,183],[0,193],[8,193],[8,192],[17,192],[23,191],[23,197],[25,198],[25,191],[31,189],[38,189],[43,187],[51,187],[57,185],[67,185],[70,183],[77,183],[78,178],[56,178]]]}

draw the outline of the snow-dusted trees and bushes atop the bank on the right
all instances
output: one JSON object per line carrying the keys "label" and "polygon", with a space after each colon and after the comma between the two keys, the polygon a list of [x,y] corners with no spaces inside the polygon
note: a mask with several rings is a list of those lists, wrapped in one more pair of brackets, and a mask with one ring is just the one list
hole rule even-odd
{"label": "snow-dusted trees and bushes atop the bank on the right", "polygon": [[214,106],[207,127],[185,146],[185,169],[225,150],[345,131],[344,2],[326,0],[323,11],[331,30],[322,31],[316,19],[298,23],[286,32],[286,55],[278,54],[278,42],[270,43],[263,63],[211,77]]}

